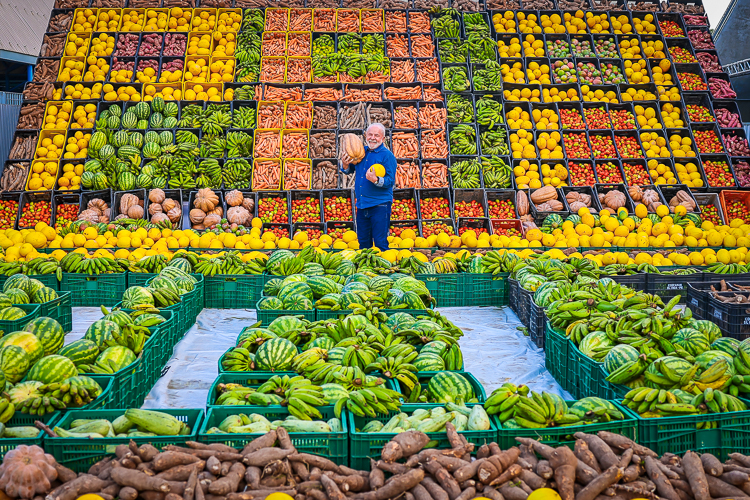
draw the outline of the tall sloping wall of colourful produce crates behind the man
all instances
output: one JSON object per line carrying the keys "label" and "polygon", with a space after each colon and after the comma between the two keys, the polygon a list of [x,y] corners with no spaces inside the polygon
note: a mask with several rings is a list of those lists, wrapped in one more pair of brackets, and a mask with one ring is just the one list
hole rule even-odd
{"label": "tall sloping wall of colourful produce crates behind the man", "polygon": [[278,237],[340,235],[353,179],[336,158],[374,122],[398,159],[393,236],[522,234],[519,218],[577,212],[576,193],[606,208],[609,184],[631,214],[633,186],[670,205],[750,186],[700,2],[308,3],[58,1],[2,227],[64,225],[78,192],[157,187],[181,190],[187,227],[209,187],[258,192],[250,215]]}

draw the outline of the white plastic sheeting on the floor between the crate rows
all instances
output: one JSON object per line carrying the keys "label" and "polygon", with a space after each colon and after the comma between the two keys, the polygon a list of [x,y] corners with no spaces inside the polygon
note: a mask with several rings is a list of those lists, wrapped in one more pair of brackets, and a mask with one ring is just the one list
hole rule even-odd
{"label": "white plastic sheeting on the floor between the crate rows", "polygon": [[[508,307],[452,307],[440,312],[464,331],[459,341],[464,370],[471,372],[489,395],[505,382],[526,384],[572,399],[544,367],[544,351],[537,349],[517,327],[518,317]],[[102,317],[95,307],[73,309],[73,332],[65,342],[79,339]],[[146,397],[144,408],[204,408],[218,375],[221,355],[235,345],[240,331],[257,321],[255,311],[204,309],[198,321],[177,344],[164,375]]]}

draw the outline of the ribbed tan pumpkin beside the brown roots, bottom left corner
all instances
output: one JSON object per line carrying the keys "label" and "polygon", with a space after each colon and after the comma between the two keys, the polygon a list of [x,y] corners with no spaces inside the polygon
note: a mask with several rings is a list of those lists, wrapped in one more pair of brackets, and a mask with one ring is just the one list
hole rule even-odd
{"label": "ribbed tan pumpkin beside the brown roots, bottom left corner", "polygon": [[38,446],[22,444],[9,451],[0,465],[0,489],[11,498],[48,493],[57,479],[55,458]]}

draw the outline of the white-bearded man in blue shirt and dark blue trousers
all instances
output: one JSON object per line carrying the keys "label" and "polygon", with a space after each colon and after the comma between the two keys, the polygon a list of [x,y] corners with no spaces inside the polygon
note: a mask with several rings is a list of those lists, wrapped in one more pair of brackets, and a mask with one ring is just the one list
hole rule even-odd
{"label": "white-bearded man in blue shirt and dark blue trousers", "polygon": [[[373,123],[365,133],[365,157],[357,164],[344,153],[341,171],[355,174],[354,196],[357,206],[357,239],[360,248],[371,248],[373,241],[380,250],[388,249],[388,226],[393,205],[393,184],[396,181],[396,157],[385,147],[385,127]],[[378,176],[373,165],[385,168]]]}

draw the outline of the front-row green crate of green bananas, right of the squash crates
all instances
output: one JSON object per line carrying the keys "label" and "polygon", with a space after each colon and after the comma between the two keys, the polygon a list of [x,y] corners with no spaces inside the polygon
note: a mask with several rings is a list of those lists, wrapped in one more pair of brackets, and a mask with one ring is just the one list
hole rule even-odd
{"label": "front-row green crate of green bananas, right of the squash crates", "polygon": [[[568,404],[573,404],[574,401],[568,401]],[[569,427],[551,427],[548,429],[504,429],[500,423],[500,419],[497,415],[492,415],[490,419],[495,422],[498,428],[497,432],[497,444],[501,449],[505,450],[512,446],[517,446],[517,437],[529,437],[537,439],[540,442],[552,446],[569,446],[573,447],[575,444],[575,438],[573,434],[576,432],[585,432],[588,434],[596,434],[599,431],[614,432],[616,434],[622,434],[630,439],[635,440],[638,435],[638,420],[633,412],[627,408],[621,406],[616,401],[613,401],[615,406],[625,415],[624,420],[618,420],[615,422],[607,422],[602,424],[590,424],[590,425],[571,425]],[[640,439],[639,443],[644,444]]]}

